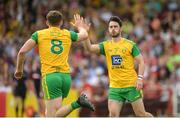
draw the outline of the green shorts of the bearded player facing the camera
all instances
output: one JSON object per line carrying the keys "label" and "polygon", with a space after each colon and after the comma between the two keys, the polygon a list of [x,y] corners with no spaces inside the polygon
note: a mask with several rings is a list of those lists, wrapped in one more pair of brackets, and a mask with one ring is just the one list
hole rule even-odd
{"label": "green shorts of the bearded player facing the camera", "polygon": [[108,99],[117,100],[121,102],[134,102],[142,98],[141,92],[136,90],[135,87],[128,88],[110,88]]}

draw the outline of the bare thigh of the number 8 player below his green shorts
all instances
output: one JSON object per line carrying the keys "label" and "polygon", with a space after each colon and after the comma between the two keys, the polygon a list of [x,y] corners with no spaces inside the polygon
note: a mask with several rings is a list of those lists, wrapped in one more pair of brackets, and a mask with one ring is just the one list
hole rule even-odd
{"label": "bare thigh of the number 8 player below his green shorts", "polygon": [[46,115],[46,117],[55,117],[55,113],[61,107],[61,104],[62,104],[61,97],[56,98],[56,99],[45,100],[45,105],[46,105],[45,115]]}

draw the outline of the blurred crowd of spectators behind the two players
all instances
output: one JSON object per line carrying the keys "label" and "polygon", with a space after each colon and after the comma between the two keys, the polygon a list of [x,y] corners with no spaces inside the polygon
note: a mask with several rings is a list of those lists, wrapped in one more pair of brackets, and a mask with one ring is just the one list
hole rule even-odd
{"label": "blurred crowd of spectators behind the two players", "polygon": [[[0,0],[0,116],[44,115],[37,48],[27,55],[23,80],[15,80],[13,74],[17,52],[33,32],[47,28],[49,10],[61,11],[63,28],[75,31],[70,24],[73,15],[86,17],[92,24],[92,43],[108,40],[107,21],[112,15],[119,16],[123,37],[136,42],[145,59],[146,110],[154,116],[180,116],[179,0]],[[83,43],[74,43],[69,62],[70,100],[85,92],[96,107],[95,112],[80,109],[75,116],[108,116],[105,57],[87,52]],[[134,116],[129,103],[121,114]]]}

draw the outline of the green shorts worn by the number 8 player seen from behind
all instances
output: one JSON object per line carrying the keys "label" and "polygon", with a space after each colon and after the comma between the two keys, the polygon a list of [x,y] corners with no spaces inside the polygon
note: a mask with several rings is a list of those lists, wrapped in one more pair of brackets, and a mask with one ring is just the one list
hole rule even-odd
{"label": "green shorts worn by the number 8 player seen from behind", "polygon": [[71,76],[68,73],[49,73],[42,80],[45,99],[67,97],[71,87]]}

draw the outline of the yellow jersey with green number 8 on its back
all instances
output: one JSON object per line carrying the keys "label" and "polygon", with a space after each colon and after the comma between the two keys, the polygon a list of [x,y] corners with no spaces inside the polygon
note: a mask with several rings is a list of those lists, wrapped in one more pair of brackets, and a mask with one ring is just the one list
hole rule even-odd
{"label": "yellow jersey with green number 8 on its back", "polygon": [[38,44],[42,76],[52,72],[70,73],[69,50],[72,41],[78,39],[77,33],[50,27],[36,31],[31,39]]}

